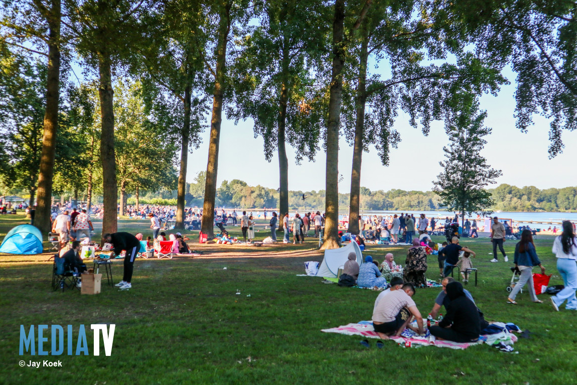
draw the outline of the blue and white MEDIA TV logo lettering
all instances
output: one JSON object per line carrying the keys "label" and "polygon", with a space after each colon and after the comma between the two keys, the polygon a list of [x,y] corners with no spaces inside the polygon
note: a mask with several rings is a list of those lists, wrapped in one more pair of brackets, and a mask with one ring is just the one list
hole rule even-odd
{"label": "blue and white MEDIA TV logo lettering", "polygon": [[[31,325],[26,332],[24,325],[20,325],[20,356],[24,355],[24,350],[30,352],[31,356],[60,356],[64,353],[64,328],[61,325],[51,325],[50,327],[50,342],[51,350],[48,352],[44,350],[48,346],[48,325]],[[93,355],[100,356],[100,331],[102,331],[102,341],[104,343],[104,353],[106,356],[110,356],[112,353],[112,343],[114,341],[114,329],[115,324],[110,324],[110,330],[107,328],[106,324],[91,324],[90,328],[93,330],[93,341],[94,349]],[[38,331],[36,331],[38,329]],[[73,335],[72,335],[72,325],[66,325],[66,354],[68,356],[88,356],[88,343],[86,339],[86,330],[84,325],[78,327],[78,338],[76,341],[76,349],[74,347]],[[36,338],[38,335],[38,350],[36,349]]]}

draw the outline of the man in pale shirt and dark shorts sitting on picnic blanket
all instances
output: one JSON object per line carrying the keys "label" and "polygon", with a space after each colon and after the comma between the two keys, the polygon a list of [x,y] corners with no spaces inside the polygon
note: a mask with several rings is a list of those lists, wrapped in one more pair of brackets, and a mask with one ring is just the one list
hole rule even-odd
{"label": "man in pale shirt and dark shorts sitting on picnic blanket", "polygon": [[[390,336],[399,337],[406,327],[418,334],[424,334],[423,318],[411,298],[414,294],[413,284],[405,283],[401,290],[391,291],[379,301],[373,311],[372,319],[374,331],[381,339],[389,339]],[[417,330],[409,325],[411,316],[417,320]]]}

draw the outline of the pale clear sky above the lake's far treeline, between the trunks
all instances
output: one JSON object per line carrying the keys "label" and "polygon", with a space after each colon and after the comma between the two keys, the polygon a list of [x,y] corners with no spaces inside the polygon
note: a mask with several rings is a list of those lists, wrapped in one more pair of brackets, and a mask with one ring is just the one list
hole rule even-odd
{"label": "pale clear sky above the lake's far treeline, between the trunks", "polygon": [[[524,134],[515,128],[515,74],[504,73],[511,82],[501,87],[499,95],[484,95],[481,109],[487,110],[485,124],[493,129],[486,137],[482,155],[489,165],[501,169],[503,175],[497,180],[501,183],[519,187],[534,185],[540,189],[563,188],[575,185],[575,155],[577,132],[563,132],[565,149],[563,154],[548,159],[549,122],[535,117],[535,125]],[[429,136],[425,137],[418,129],[411,128],[409,118],[399,114],[395,129],[401,136],[398,149],[392,149],[388,167],[381,165],[377,152],[371,148],[363,154],[361,185],[371,190],[430,190],[432,181],[440,173],[440,160],[443,160],[443,146],[448,144],[443,122],[434,122]],[[207,116],[207,122],[209,117]],[[199,171],[206,170],[208,159],[209,129],[203,135],[201,147],[189,155],[187,181],[192,182]],[[339,173],[343,180],[339,183],[339,192],[350,191],[351,162],[353,148],[344,139],[340,140]],[[288,148],[288,188],[290,190],[321,190],[325,188],[325,154],[321,150],[316,162],[303,161],[295,165],[294,150]],[[249,159],[245,161],[244,159]],[[271,163],[263,155],[263,140],[254,138],[253,122],[245,121],[234,125],[234,121],[223,117],[220,134],[220,155],[218,184],[223,180],[240,179],[249,185],[260,184],[268,188],[279,186],[278,156]]]}

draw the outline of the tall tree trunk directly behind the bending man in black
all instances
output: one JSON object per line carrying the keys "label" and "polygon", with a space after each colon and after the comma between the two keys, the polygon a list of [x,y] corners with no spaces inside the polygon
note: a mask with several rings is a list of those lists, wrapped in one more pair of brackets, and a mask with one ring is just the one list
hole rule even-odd
{"label": "tall tree trunk directly behind the bending man in black", "polygon": [[100,132],[100,159],[102,162],[102,190],[104,215],[102,217],[102,234],[117,231],[117,199],[118,186],[116,181],[116,159],[114,153],[114,110],[113,87],[110,67],[110,54],[101,52],[98,69],[100,84],[100,118],[102,130]]}

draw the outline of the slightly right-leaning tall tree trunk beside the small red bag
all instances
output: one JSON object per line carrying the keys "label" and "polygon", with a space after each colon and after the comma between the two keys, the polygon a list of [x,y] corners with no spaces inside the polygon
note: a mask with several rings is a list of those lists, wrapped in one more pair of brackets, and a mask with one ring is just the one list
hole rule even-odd
{"label": "slightly right-leaning tall tree trunk beside the small red bag", "polygon": [[201,231],[214,237],[214,208],[216,199],[216,172],[220,125],[222,124],[222,101],[224,96],[224,72],[226,70],[226,48],[230,32],[230,2],[220,13],[219,38],[216,48],[215,87],[212,99],[211,138],[208,146],[207,180],[204,185],[203,224]]}

